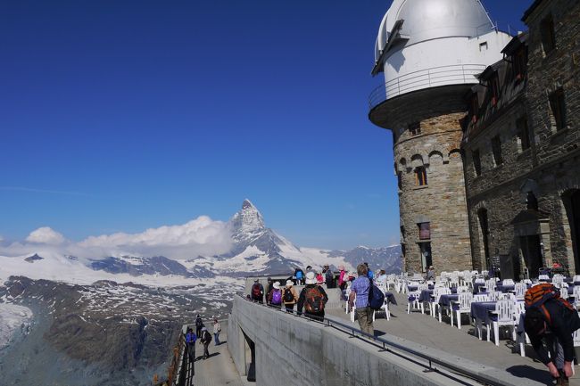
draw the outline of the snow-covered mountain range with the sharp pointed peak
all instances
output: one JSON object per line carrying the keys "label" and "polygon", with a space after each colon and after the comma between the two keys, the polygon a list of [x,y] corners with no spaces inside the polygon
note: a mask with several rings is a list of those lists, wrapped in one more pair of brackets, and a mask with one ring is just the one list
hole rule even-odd
{"label": "snow-covered mountain range with the sharp pointed peak", "polygon": [[[33,279],[93,283],[95,280],[132,281],[153,285],[187,285],[190,280],[229,276],[286,274],[295,267],[315,269],[328,264],[354,269],[366,261],[371,268],[387,273],[401,270],[401,247],[352,250],[322,250],[298,247],[266,226],[260,211],[249,200],[225,224],[231,247],[219,255],[181,258],[135,255],[95,256],[78,259],[59,254],[58,250],[29,250],[29,254],[0,257],[0,279],[24,275]],[[31,245],[31,248],[40,248]]]}

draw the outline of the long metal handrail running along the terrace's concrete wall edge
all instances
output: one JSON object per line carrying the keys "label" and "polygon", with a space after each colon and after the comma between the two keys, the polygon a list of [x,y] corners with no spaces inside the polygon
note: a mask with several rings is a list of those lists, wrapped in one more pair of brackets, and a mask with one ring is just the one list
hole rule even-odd
{"label": "long metal handrail running along the terrace's concrete wall edge", "polygon": [[[471,371],[468,368],[465,368],[461,365],[458,365],[457,360],[456,361],[450,361],[450,360],[445,360],[442,357],[434,357],[434,356],[430,356],[427,353],[425,353],[424,351],[418,351],[417,349],[411,349],[407,346],[403,346],[400,343],[397,343],[396,341],[389,341],[389,340],[385,340],[384,338],[379,338],[377,336],[374,335],[370,335],[369,333],[363,333],[362,331],[360,331],[358,328],[354,328],[352,325],[349,324],[344,324],[342,322],[338,322],[334,319],[330,319],[327,316],[324,317],[323,320],[318,320],[315,317],[311,317],[311,316],[302,316],[302,314],[298,314],[297,311],[286,311],[286,308],[278,308],[275,306],[269,306],[260,302],[256,302],[253,300],[248,300],[246,298],[244,298],[244,296],[240,293],[237,294],[237,296],[239,296],[240,298],[242,298],[243,300],[252,302],[256,305],[259,305],[261,307],[265,307],[265,308],[269,308],[272,310],[277,310],[277,311],[281,311],[284,312],[285,314],[292,314],[296,317],[301,317],[303,319],[312,321],[312,322],[316,322],[319,324],[324,324],[327,325],[328,327],[334,327],[337,330],[340,331],[345,331],[345,332],[350,332],[352,336],[357,336],[357,333],[360,334],[360,336],[364,336],[366,338],[368,338],[369,340],[373,341],[373,342],[369,342],[369,343],[373,343],[374,345],[376,345],[377,347],[381,347],[382,349],[384,349],[385,351],[389,351],[389,349],[397,349],[400,351],[403,351],[407,354],[410,354],[412,356],[415,357],[420,357],[422,359],[425,359],[428,361],[428,368],[430,371],[435,371],[439,374],[443,374],[443,375],[447,375],[448,374],[444,374],[441,373],[440,371],[438,371],[437,368],[433,367],[433,364],[435,365],[441,365],[443,367],[445,367],[448,370],[451,370],[452,372],[456,373],[456,374],[460,374],[462,376],[465,376],[467,378],[470,378],[474,381],[477,382],[483,382],[486,385],[490,385],[490,386],[504,386],[505,383],[503,382],[499,382],[497,379],[492,378],[492,377],[488,377],[485,374],[480,374],[480,373],[475,373],[474,371]],[[340,328],[337,328],[340,327]],[[434,351],[436,349],[429,349],[431,351]],[[460,357],[457,357],[460,358]]]}

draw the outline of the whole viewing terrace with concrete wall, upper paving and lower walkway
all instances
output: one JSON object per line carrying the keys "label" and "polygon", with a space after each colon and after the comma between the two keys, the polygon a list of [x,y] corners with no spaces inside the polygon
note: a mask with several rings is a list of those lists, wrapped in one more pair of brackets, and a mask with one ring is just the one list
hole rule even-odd
{"label": "whole viewing terrace with concrete wall, upper paving and lower walkway", "polygon": [[[398,288],[415,289],[413,283]],[[408,293],[390,290],[397,304],[388,305],[389,320],[385,312],[377,313],[375,337],[360,333],[358,322],[345,313],[338,289],[326,290],[329,301],[323,322],[236,295],[228,322],[222,324],[227,349],[211,344],[211,357],[195,362],[193,383],[172,384],[552,384],[529,344],[522,357],[511,334],[501,335],[499,346],[493,339],[486,341],[485,334],[479,340],[467,316],[458,329],[457,321],[452,326],[444,312],[442,323],[431,317],[428,307],[424,314],[420,308],[411,308],[408,314]],[[580,377],[573,376],[570,384],[580,385]]]}

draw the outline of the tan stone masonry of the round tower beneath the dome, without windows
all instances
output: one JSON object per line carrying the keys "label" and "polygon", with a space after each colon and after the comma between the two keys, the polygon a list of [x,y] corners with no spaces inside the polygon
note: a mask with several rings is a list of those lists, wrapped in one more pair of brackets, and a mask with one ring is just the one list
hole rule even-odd
{"label": "tan stone masonry of the round tower beneath the dome, without windows", "polygon": [[[404,230],[406,269],[422,272],[419,242],[431,243],[437,271],[471,269],[468,213],[460,156],[462,112],[419,119],[421,134],[401,130],[394,145],[395,170],[401,175],[399,207]],[[406,125],[405,125],[406,123]],[[406,127],[411,122],[402,122]],[[427,170],[427,185],[417,185],[415,168]],[[430,240],[420,240],[418,224],[430,224]]]}

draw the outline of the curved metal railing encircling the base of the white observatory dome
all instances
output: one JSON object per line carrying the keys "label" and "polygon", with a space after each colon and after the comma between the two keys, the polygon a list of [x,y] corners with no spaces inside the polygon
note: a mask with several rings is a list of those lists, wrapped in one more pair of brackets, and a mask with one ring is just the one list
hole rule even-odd
{"label": "curved metal railing encircling the base of the white observatory dome", "polygon": [[485,64],[454,64],[409,72],[377,86],[369,95],[369,110],[395,96],[429,87],[477,83]]}

